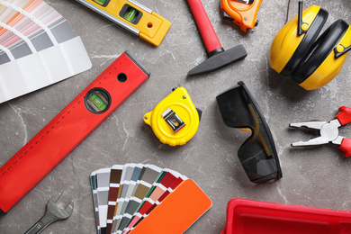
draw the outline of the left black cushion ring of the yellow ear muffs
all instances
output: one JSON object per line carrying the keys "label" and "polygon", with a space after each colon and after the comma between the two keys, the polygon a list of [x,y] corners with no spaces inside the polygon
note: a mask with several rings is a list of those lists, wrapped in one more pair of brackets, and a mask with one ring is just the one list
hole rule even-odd
{"label": "left black cushion ring of the yellow ear muffs", "polygon": [[[316,15],[313,23],[309,30],[303,36],[300,45],[297,47],[293,56],[289,59],[288,63],[285,65],[281,74],[284,76],[291,76],[293,75],[293,71],[300,66],[302,59],[306,57],[306,54],[313,46],[314,41],[317,39],[318,35],[320,34],[321,29],[323,28],[324,23],[326,23],[328,19],[328,12],[322,8],[320,8],[320,12]],[[303,20],[302,20],[303,21]],[[297,37],[297,34],[296,34]]]}

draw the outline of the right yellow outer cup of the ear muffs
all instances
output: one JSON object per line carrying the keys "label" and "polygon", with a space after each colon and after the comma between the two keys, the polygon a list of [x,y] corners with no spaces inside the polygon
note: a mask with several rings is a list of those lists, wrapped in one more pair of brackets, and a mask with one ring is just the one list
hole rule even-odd
{"label": "right yellow outer cup of the ear muffs", "polygon": [[[347,48],[351,45],[351,27],[348,26],[347,31],[341,38],[337,45],[337,49],[341,46]],[[327,85],[335,76],[338,76],[341,68],[344,66],[347,60],[347,54],[339,58],[335,58],[335,51],[333,50],[329,56],[323,61],[314,73],[303,81],[300,85],[306,90],[312,90],[320,88],[323,85]]]}

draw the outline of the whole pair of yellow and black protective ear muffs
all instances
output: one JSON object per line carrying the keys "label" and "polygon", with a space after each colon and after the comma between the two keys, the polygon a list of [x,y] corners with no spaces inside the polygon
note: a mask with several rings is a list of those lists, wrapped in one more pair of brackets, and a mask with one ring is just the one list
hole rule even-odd
{"label": "whole pair of yellow and black protective ear muffs", "polygon": [[270,66],[284,76],[292,76],[306,90],[326,85],[337,76],[347,58],[343,55],[351,49],[350,25],[342,20],[316,40],[327,18],[327,11],[312,5],[284,25],[270,49]]}

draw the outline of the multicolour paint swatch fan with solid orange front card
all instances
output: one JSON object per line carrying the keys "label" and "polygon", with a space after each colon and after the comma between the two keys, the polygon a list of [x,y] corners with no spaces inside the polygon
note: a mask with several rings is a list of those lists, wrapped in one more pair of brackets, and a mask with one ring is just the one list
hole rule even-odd
{"label": "multicolour paint swatch fan with solid orange front card", "polygon": [[211,208],[193,180],[153,165],[103,168],[91,174],[91,184],[101,234],[183,233]]}

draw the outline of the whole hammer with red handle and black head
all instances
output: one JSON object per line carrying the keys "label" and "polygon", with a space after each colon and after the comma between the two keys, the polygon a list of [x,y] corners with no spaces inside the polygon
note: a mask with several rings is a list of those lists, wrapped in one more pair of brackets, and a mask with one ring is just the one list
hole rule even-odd
{"label": "whole hammer with red handle and black head", "polygon": [[247,57],[247,51],[243,45],[238,45],[234,48],[224,50],[221,47],[220,40],[214,31],[208,15],[206,14],[201,0],[187,0],[193,12],[193,17],[202,35],[202,40],[205,44],[207,55],[209,58],[201,64],[193,67],[188,72],[188,76],[196,76],[206,72],[211,72],[224,67],[229,63],[238,61]]}

